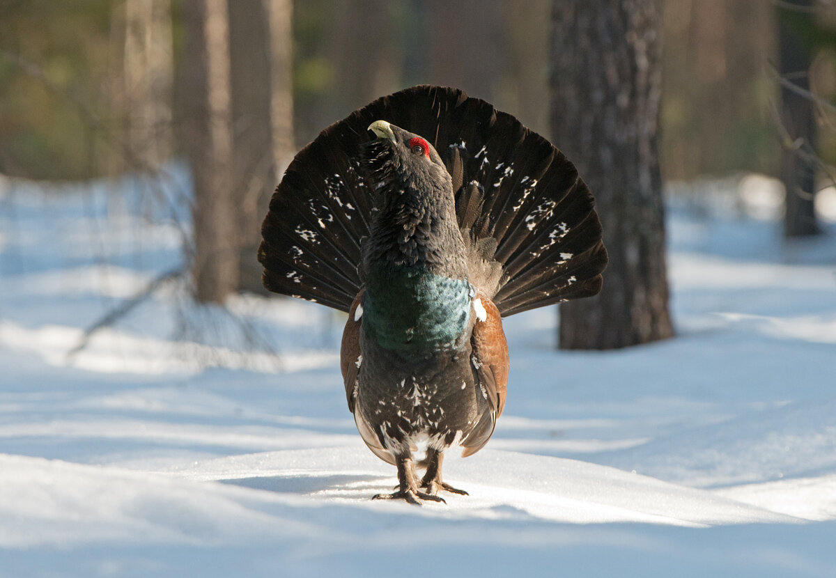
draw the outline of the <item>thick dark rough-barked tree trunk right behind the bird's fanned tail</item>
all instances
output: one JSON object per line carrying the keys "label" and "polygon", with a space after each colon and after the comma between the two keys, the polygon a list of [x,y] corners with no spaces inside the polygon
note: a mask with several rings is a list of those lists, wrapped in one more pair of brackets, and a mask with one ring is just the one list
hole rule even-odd
{"label": "thick dark rough-barked tree trunk right behind the bird's fanned tail", "polygon": [[609,266],[597,297],[560,307],[560,347],[670,337],[657,155],[659,0],[555,0],[552,135],[598,200]]}

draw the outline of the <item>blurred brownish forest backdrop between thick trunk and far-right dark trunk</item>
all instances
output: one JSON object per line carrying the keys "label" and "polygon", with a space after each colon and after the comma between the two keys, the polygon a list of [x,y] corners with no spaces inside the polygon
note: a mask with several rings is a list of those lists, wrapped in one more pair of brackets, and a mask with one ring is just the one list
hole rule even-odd
{"label": "blurred brownish forest backdrop between thick trunk and far-right dark trunk", "polygon": [[777,176],[774,8],[761,0],[670,0],[663,16],[660,155],[665,178],[733,170]]}

